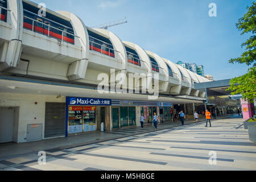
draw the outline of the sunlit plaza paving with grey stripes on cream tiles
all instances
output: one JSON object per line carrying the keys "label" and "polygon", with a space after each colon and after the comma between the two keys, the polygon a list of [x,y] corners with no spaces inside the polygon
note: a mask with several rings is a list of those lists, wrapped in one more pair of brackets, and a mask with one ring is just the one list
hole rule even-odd
{"label": "sunlit plaza paving with grey stripes on cream tiles", "polygon": [[[212,125],[204,127],[201,122],[167,129],[160,125],[162,129],[150,133],[45,150],[46,165],[38,164],[37,152],[0,159],[0,169],[256,170],[256,144],[248,139],[242,119],[219,119]],[[209,164],[209,151],[216,152],[217,165]]]}

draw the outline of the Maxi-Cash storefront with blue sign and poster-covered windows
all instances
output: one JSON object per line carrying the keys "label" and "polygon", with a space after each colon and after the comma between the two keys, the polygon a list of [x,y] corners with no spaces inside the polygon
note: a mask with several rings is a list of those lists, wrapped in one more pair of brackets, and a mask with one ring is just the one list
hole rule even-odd
{"label": "Maxi-Cash storefront with blue sign and poster-covered windows", "polygon": [[[110,106],[111,100],[98,98],[66,97],[65,136],[96,131],[105,116],[102,106]],[[97,115],[100,114],[99,117]],[[97,121],[99,120],[99,121]]]}

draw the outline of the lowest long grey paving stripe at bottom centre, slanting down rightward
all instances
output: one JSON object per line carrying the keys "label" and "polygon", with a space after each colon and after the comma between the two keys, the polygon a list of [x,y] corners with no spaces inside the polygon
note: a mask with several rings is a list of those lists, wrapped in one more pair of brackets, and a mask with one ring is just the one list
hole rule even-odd
{"label": "lowest long grey paving stripe at bottom centre, slanting down rightward", "polygon": [[141,163],[159,164],[159,165],[163,165],[163,166],[167,164],[165,162],[156,162],[156,161],[152,161],[152,160],[142,160],[142,159],[131,159],[131,158],[123,158],[123,157],[117,157],[117,156],[109,156],[109,155],[89,154],[89,153],[82,153],[82,152],[77,152],[77,154],[95,156],[95,157],[99,157],[99,158],[109,158],[109,159],[141,162]]}

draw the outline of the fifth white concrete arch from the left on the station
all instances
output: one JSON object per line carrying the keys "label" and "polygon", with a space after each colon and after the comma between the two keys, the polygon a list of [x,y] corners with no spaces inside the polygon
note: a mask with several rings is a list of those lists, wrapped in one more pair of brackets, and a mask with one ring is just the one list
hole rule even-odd
{"label": "fifth white concrete arch from the left on the station", "polygon": [[[168,90],[168,84],[169,84],[169,72],[166,63],[160,57],[154,52],[146,51],[148,56],[153,57],[156,60],[156,63],[158,63],[159,67],[159,92],[160,93],[166,93],[169,92]],[[153,73],[153,71],[151,70]],[[154,77],[154,74],[152,74],[152,77]]]}

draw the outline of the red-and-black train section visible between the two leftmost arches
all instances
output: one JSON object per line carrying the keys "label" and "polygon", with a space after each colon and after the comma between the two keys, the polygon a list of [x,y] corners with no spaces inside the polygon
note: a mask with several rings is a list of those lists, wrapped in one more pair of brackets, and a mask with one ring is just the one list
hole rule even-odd
{"label": "red-and-black train section visible between the two leftmost arches", "polygon": [[[2,0],[0,0],[2,1]],[[52,38],[75,44],[75,35],[72,24],[59,16],[46,12],[40,16],[40,9],[23,1],[24,20],[23,27],[47,35]]]}

